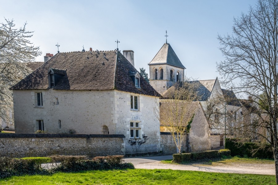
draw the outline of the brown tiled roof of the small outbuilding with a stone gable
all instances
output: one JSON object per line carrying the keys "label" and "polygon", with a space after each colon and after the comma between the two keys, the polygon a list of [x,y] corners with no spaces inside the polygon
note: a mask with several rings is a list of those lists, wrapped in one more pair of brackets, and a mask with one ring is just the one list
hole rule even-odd
{"label": "brown tiled roof of the small outbuilding with a stone gable", "polygon": [[[187,124],[188,121],[192,118],[192,115],[195,113],[199,101],[186,102],[186,101],[173,101],[171,99],[162,99],[160,100],[160,125],[162,126],[171,126],[169,124],[169,117],[181,118],[183,116],[183,121]],[[178,116],[175,116],[175,108],[178,109]],[[177,120],[179,121],[179,120]]]}

